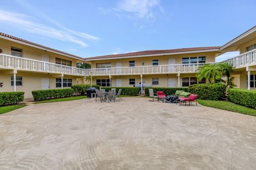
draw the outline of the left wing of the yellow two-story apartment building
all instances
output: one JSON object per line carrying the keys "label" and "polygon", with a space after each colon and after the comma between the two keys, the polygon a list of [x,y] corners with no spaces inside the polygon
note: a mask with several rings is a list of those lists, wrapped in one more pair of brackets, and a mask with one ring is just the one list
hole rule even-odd
{"label": "left wing of the yellow two-story apartment building", "polygon": [[0,33],[0,92],[68,88],[84,77],[84,58]]}

